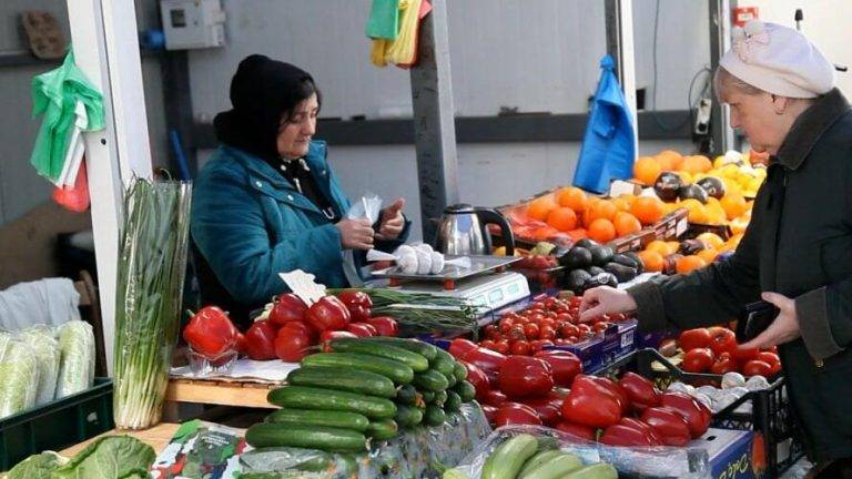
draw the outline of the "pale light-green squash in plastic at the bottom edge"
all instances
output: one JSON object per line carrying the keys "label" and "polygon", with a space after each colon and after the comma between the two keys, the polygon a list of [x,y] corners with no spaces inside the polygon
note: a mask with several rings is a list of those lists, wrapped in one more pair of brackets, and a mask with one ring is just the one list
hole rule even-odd
{"label": "pale light-green squash in plastic at the bottom edge", "polygon": [[[469,479],[458,469],[444,472],[444,479]],[[611,465],[584,466],[579,457],[562,452],[554,438],[520,434],[507,439],[483,466],[481,479],[618,479]]]}

